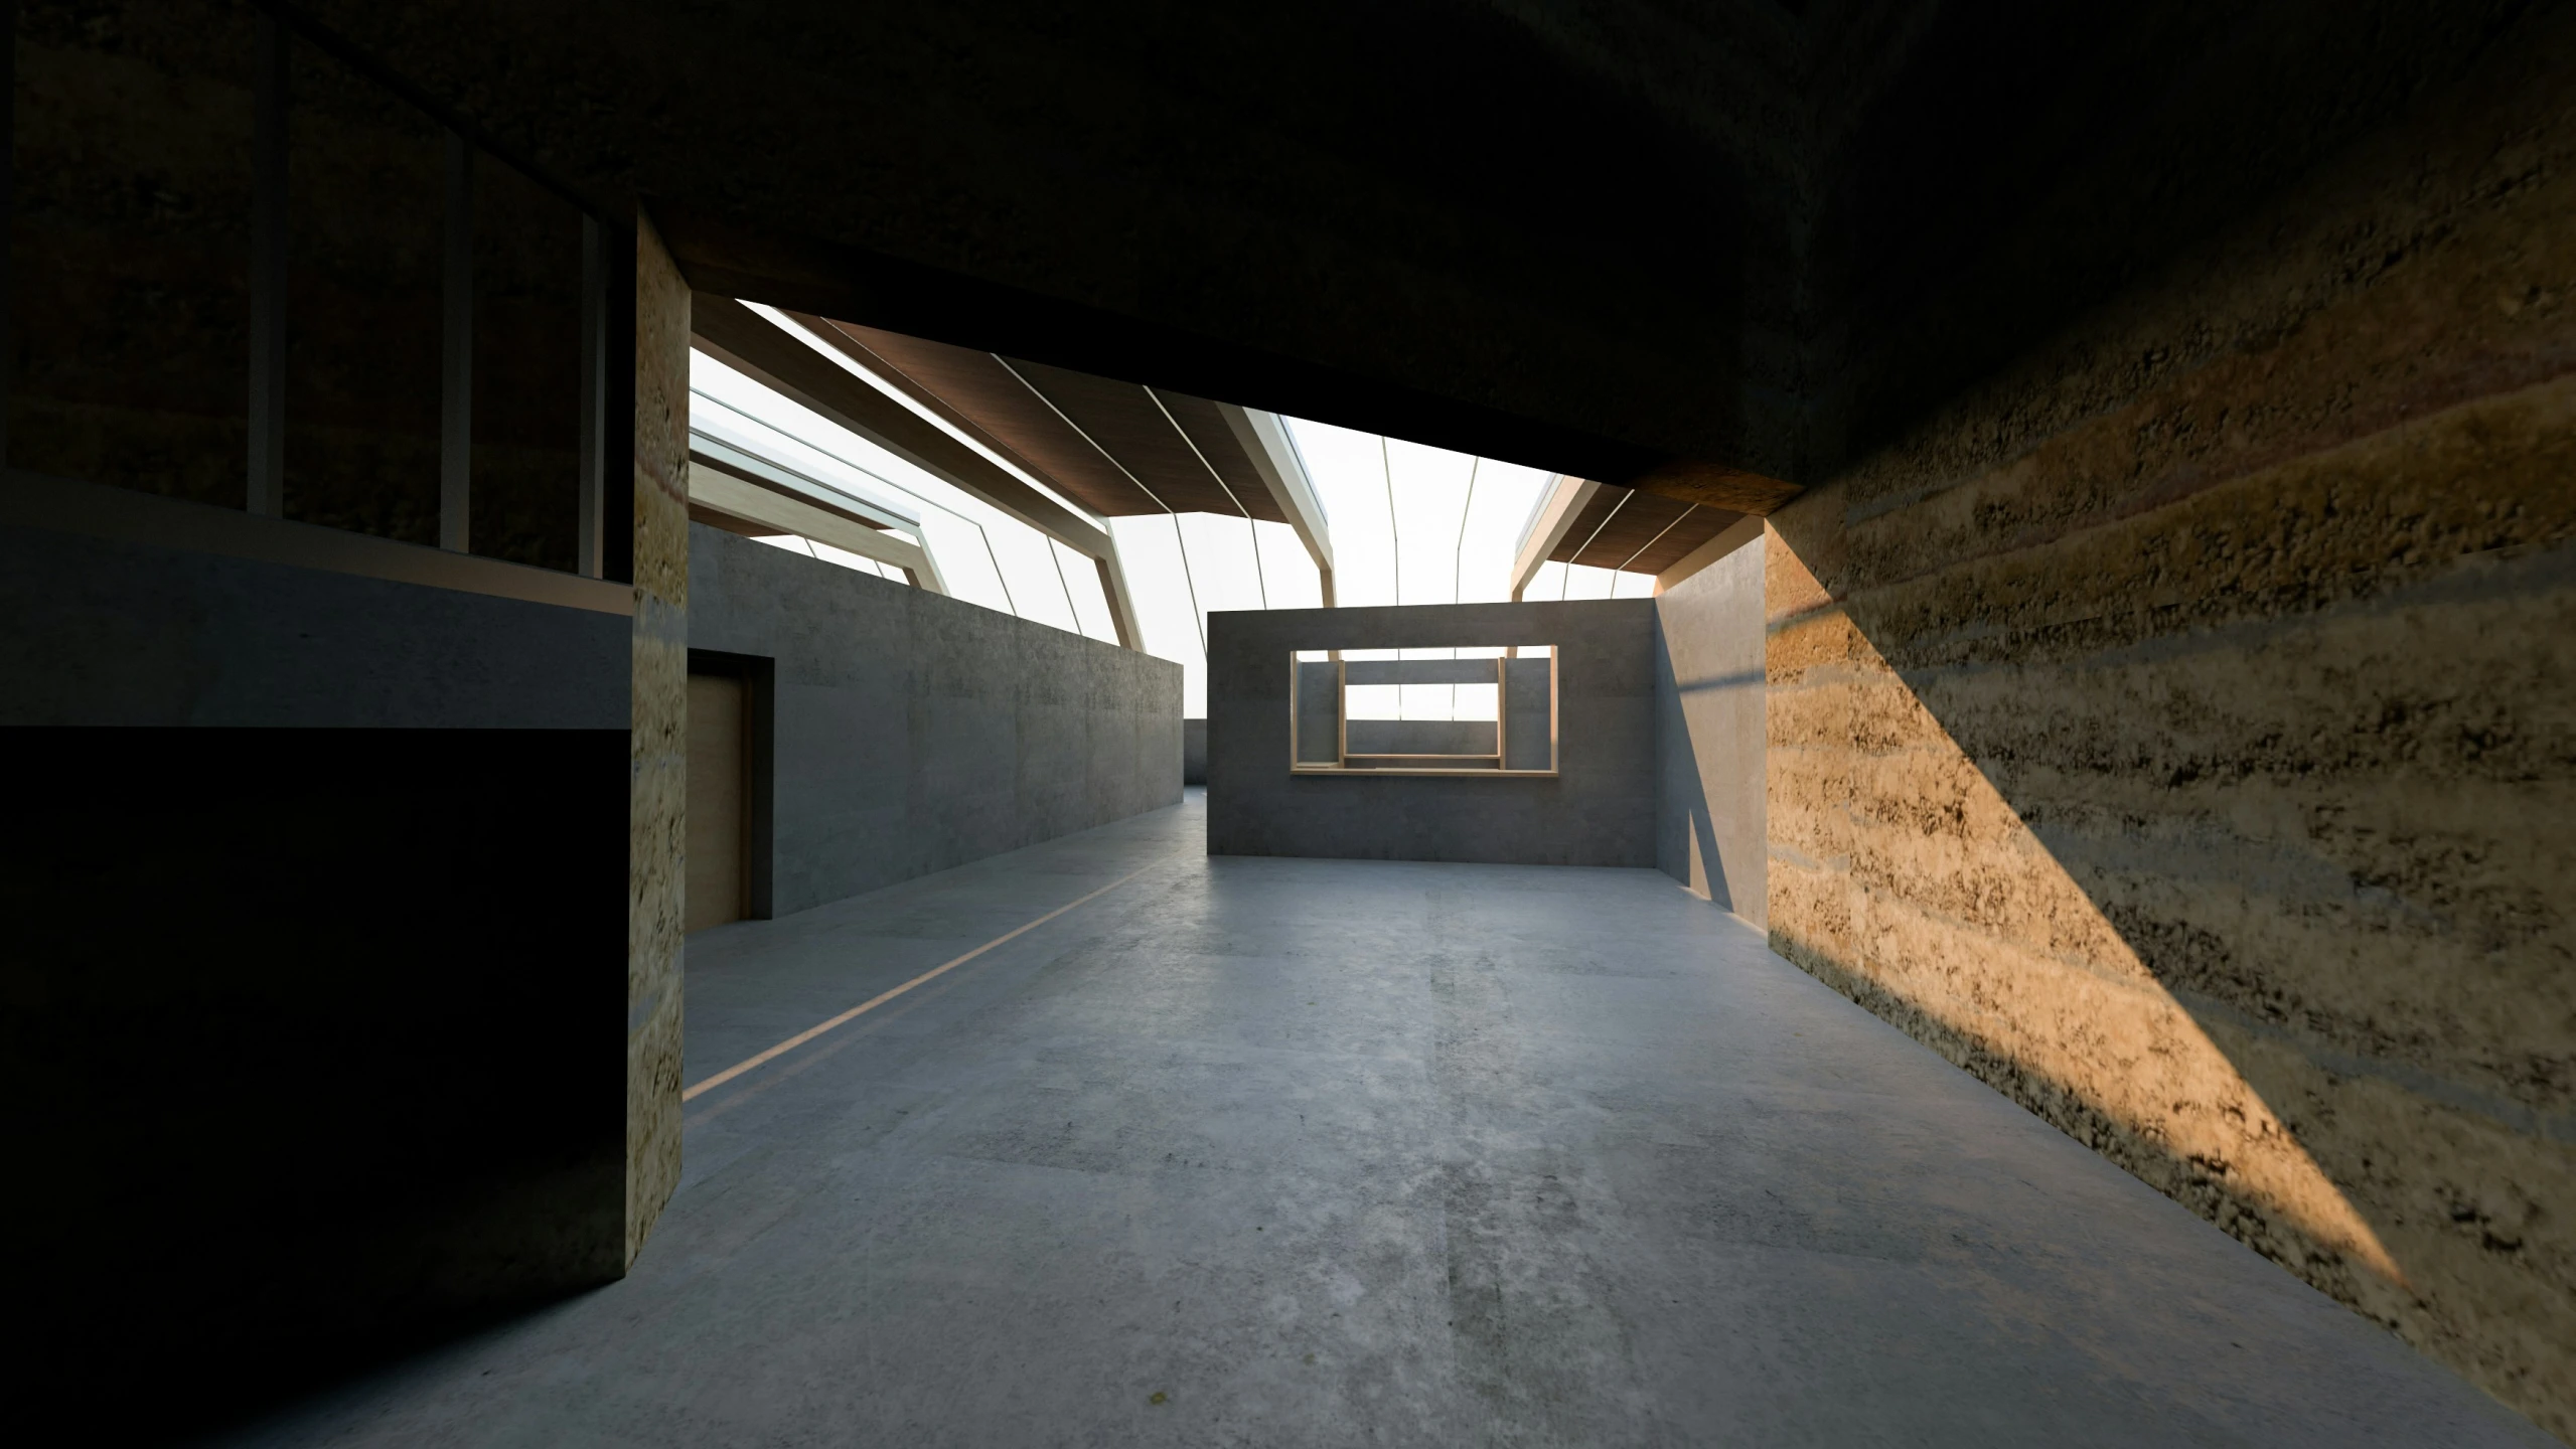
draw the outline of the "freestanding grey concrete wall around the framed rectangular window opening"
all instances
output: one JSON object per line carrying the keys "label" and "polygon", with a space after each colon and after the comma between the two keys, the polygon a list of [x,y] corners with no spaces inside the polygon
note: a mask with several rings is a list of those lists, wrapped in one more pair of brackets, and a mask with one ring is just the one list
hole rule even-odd
{"label": "freestanding grey concrete wall around the framed rectangular window opening", "polygon": [[[1556,643],[1558,777],[1288,775],[1298,649]],[[1208,615],[1208,854],[1654,865],[1654,602]]]}

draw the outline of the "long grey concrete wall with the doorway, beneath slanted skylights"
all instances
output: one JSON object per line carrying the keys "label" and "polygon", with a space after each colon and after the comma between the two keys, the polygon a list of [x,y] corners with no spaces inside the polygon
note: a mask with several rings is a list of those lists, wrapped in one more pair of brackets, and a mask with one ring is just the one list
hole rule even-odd
{"label": "long grey concrete wall with the doorway, beneath slanted skylights", "polygon": [[770,914],[1180,800],[1180,664],[706,525],[688,543],[690,646],[775,661]]}

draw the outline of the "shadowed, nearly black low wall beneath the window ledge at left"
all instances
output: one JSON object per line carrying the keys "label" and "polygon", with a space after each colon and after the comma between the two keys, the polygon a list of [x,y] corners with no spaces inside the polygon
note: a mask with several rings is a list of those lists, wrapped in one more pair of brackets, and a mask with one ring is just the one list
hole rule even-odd
{"label": "shadowed, nearly black low wall beneath the window ledge at left", "polygon": [[[23,474],[0,517],[13,1400],[149,1374],[162,1434],[618,1277],[626,589]],[[242,535],[592,607],[170,543]]]}

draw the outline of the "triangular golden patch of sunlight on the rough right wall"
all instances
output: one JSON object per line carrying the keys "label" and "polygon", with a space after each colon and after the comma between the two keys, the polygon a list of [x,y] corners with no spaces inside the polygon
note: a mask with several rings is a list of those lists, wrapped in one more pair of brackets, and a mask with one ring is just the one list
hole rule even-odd
{"label": "triangular golden patch of sunlight on the rough right wall", "polygon": [[2267,1256],[2360,1269],[2326,1277],[2365,1310],[2409,1297],[2370,1223],[1777,535],[1767,569],[1772,950]]}

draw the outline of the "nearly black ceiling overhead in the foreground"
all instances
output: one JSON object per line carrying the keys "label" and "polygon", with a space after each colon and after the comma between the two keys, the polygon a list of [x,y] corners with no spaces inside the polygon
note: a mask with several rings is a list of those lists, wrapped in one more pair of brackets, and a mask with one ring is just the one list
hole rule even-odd
{"label": "nearly black ceiling overhead in the foreground", "polygon": [[1113,404],[1064,373],[1131,378],[1767,507],[2532,5],[299,10],[603,214],[641,203],[701,291],[1025,358],[1072,414]]}

